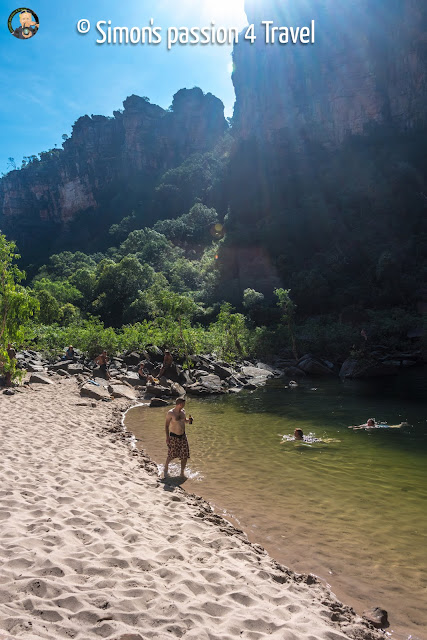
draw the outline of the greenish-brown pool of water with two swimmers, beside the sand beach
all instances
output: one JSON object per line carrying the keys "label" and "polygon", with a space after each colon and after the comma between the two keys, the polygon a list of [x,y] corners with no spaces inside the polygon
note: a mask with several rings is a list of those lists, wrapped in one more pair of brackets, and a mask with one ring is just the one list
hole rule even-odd
{"label": "greenish-brown pool of water with two swimmers, beside the sand beach", "polygon": [[[189,398],[195,421],[183,486],[279,562],[318,575],[358,613],[386,609],[393,637],[427,640],[425,380],[425,370],[298,388],[276,380],[251,393]],[[411,426],[347,429],[369,417]],[[126,416],[160,472],[164,418],[164,408]],[[327,442],[281,443],[296,427]]]}

